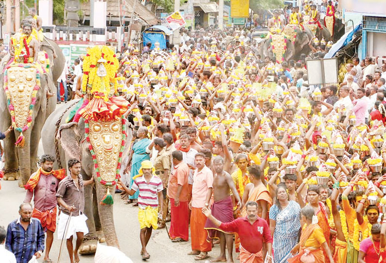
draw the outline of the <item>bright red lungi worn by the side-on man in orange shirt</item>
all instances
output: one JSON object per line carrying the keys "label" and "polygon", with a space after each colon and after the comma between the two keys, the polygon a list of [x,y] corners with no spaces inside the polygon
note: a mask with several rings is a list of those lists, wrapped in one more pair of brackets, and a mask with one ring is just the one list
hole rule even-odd
{"label": "bright red lungi worn by the side-on man in orange shirt", "polygon": [[174,205],[174,198],[170,198],[172,216],[169,235],[172,239],[182,238],[189,240],[189,208],[188,201],[179,201],[179,206]]}

